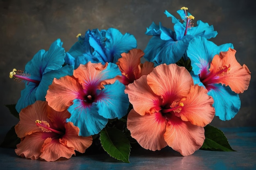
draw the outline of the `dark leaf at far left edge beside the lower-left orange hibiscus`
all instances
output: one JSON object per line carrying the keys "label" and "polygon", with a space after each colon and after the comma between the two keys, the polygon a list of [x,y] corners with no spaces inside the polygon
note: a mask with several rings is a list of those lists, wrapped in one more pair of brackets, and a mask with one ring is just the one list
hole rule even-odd
{"label": "dark leaf at far left edge beside the lower-left orange hibiscus", "polygon": [[1,147],[16,148],[16,145],[20,143],[20,138],[16,135],[14,126],[7,132]]}

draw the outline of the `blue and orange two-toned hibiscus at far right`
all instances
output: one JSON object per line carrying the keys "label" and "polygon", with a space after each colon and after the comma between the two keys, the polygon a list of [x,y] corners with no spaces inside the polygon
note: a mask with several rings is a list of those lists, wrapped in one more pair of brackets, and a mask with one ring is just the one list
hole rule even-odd
{"label": "blue and orange two-toned hibiscus at far right", "polygon": [[251,72],[235,57],[232,44],[217,46],[205,38],[191,40],[187,56],[191,60],[191,75],[195,84],[207,88],[214,99],[216,116],[230,120],[238,113],[241,102],[238,96],[249,87]]}

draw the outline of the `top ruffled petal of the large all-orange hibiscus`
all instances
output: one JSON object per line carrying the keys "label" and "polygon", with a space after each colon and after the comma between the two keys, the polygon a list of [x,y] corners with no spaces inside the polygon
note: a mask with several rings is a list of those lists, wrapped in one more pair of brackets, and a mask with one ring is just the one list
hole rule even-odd
{"label": "top ruffled petal of the large all-orange hibiscus", "polygon": [[185,67],[177,64],[160,64],[147,76],[147,82],[152,91],[159,96],[172,94],[185,97],[193,79]]}

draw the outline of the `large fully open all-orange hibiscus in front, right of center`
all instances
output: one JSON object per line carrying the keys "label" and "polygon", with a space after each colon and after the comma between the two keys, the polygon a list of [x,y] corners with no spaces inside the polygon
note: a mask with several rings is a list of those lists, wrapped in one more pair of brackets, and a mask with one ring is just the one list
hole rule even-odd
{"label": "large fully open all-orange hibiscus in front, right of center", "polygon": [[194,85],[190,73],[176,64],[160,64],[126,86],[133,109],[127,128],[145,149],[170,146],[191,155],[204,143],[204,126],[215,110],[207,90]]}

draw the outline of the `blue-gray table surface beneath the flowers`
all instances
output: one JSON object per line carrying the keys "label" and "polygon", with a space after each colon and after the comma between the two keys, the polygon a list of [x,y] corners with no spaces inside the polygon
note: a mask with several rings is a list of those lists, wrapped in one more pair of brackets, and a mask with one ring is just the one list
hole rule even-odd
{"label": "blue-gray table surface beneath the flowers", "polygon": [[130,163],[111,158],[107,153],[79,154],[55,162],[30,160],[18,157],[13,148],[0,148],[1,170],[253,170],[256,169],[256,127],[220,128],[236,152],[198,150],[182,157],[171,148],[149,151],[132,149]]}

